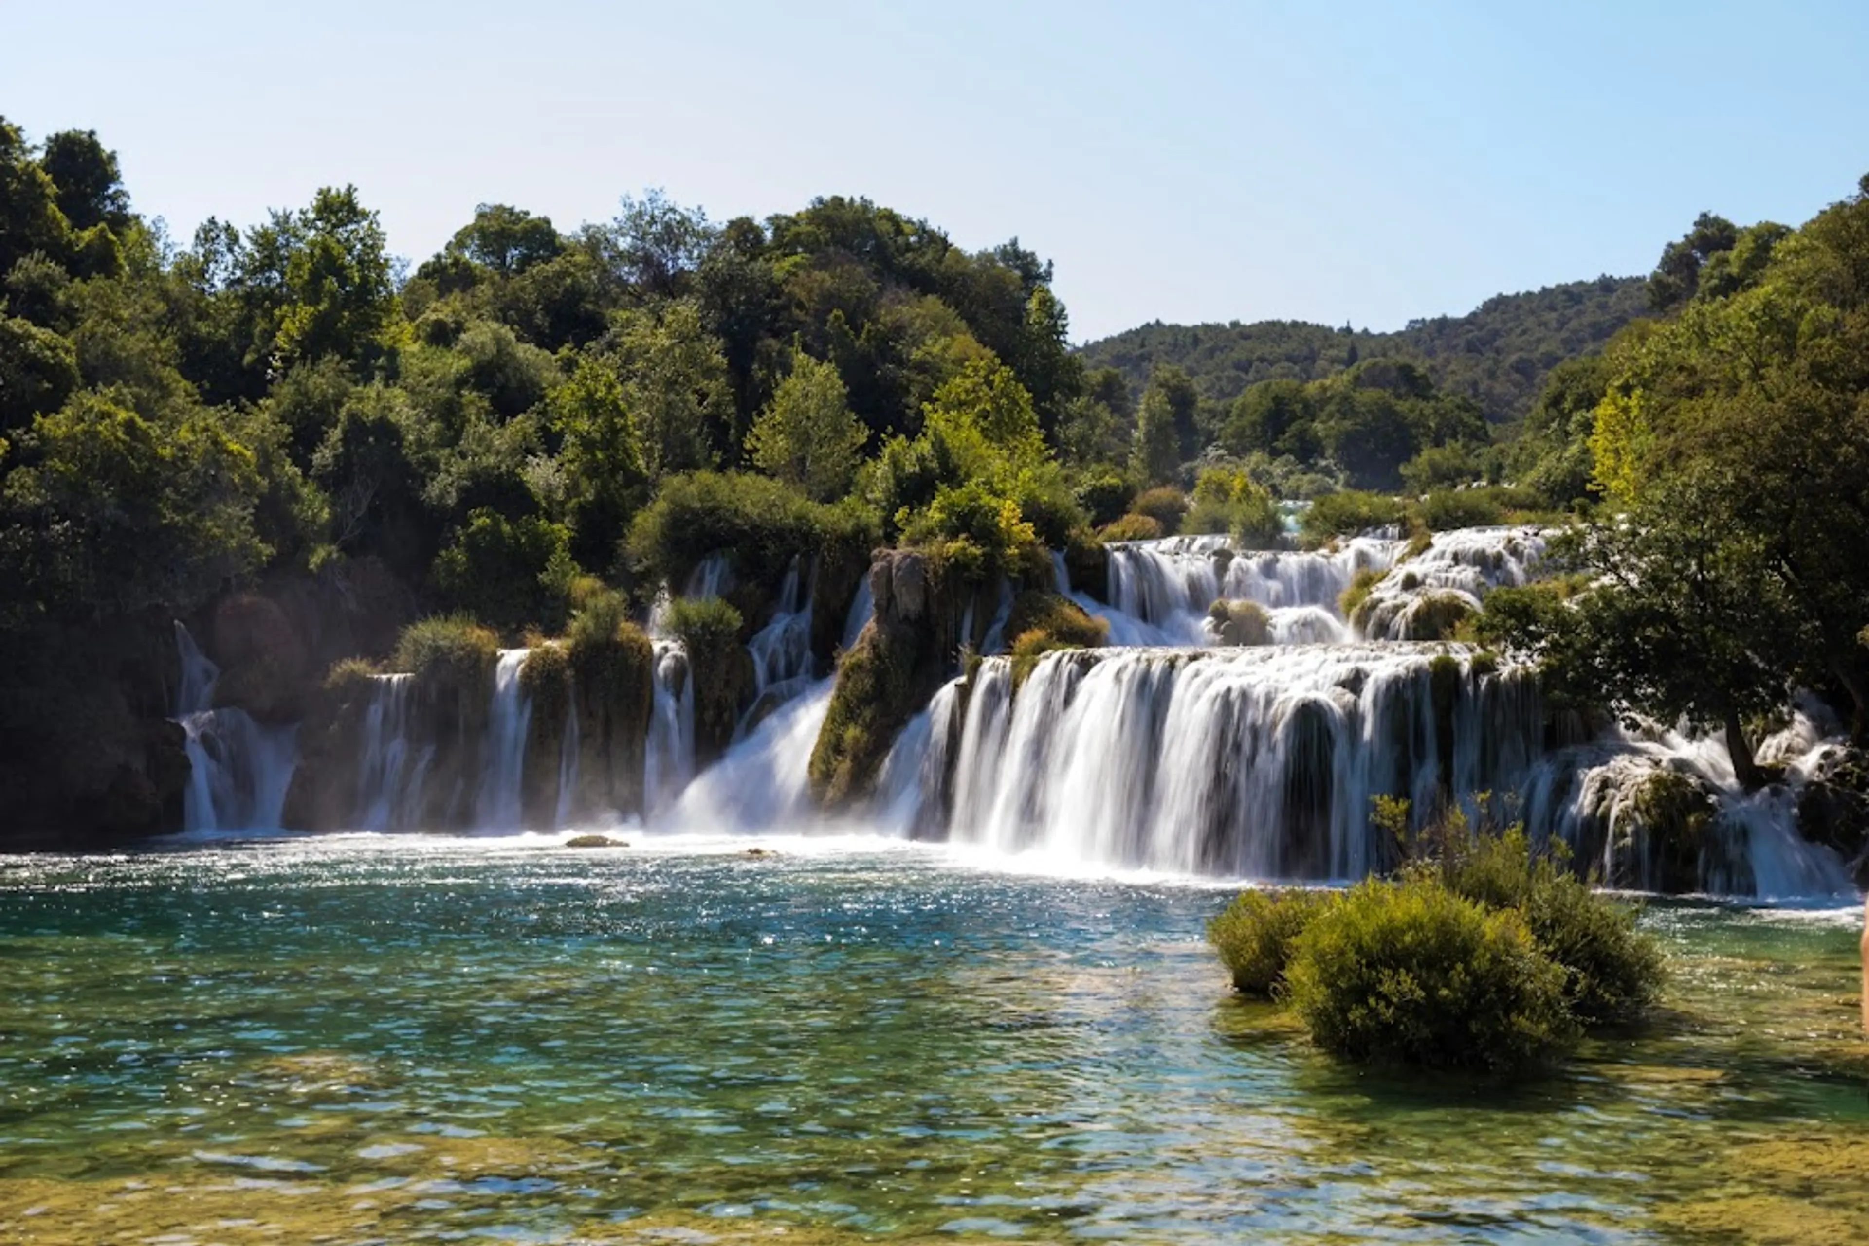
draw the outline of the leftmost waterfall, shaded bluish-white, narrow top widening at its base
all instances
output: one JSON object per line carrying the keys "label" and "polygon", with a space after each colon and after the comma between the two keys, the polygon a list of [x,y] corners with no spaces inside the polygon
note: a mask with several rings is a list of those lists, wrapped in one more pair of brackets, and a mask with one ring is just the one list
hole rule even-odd
{"label": "leftmost waterfall, shaded bluish-white, narrow top widening at its base", "polygon": [[189,757],[183,829],[278,829],[292,772],[299,764],[299,729],[267,727],[232,706],[211,708],[221,669],[202,654],[181,622],[176,622],[176,652],[181,663],[176,721]]}

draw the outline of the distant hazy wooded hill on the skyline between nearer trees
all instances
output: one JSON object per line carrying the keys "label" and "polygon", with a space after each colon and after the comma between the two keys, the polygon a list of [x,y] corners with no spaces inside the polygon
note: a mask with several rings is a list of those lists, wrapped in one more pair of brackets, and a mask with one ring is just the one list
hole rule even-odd
{"label": "distant hazy wooded hill on the skyline between nearer trees", "polygon": [[1142,392],[1157,364],[1179,364],[1207,402],[1232,402],[1258,381],[1316,381],[1359,359],[1404,357],[1480,404],[1495,424],[1531,409],[1546,374],[1602,347],[1648,312],[1645,278],[1598,276],[1495,295],[1467,316],[1409,321],[1400,333],[1344,331],[1291,319],[1252,325],[1138,325],[1082,347],[1090,368],[1118,368]]}

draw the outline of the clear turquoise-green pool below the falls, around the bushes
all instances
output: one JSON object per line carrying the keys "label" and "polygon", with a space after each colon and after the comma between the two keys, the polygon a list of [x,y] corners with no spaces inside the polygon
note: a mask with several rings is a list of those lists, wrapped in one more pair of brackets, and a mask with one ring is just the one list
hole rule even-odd
{"label": "clear turquoise-green pool below the falls, around the bushes", "polygon": [[0,1240],[1869,1240],[1860,910],[1650,908],[1506,1091],[1228,998],[1226,889],[746,842],[0,857]]}

